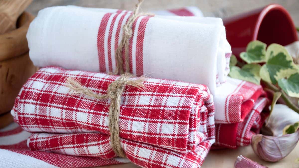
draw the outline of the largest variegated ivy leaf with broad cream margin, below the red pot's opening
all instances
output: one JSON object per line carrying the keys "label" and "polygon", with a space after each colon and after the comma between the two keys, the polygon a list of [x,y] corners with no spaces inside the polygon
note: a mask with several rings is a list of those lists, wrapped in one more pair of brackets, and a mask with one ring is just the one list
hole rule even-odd
{"label": "largest variegated ivy leaf with broad cream margin, below the red pot's opening", "polygon": [[289,77],[298,71],[288,51],[279,44],[271,44],[266,51],[266,64],[260,70],[260,77],[270,83]]}

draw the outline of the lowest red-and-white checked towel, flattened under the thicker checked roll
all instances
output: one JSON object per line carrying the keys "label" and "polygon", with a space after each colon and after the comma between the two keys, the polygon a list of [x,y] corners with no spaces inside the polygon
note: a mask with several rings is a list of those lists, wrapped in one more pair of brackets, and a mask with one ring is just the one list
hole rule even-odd
{"label": "lowest red-and-white checked towel, flattened under the thicker checked roll", "polygon": [[[127,158],[141,167],[198,167],[210,146],[209,141],[203,141],[194,151],[183,154],[132,140],[120,141]],[[106,159],[115,157],[109,142],[109,135],[102,133],[36,133],[28,139],[31,150]]]}

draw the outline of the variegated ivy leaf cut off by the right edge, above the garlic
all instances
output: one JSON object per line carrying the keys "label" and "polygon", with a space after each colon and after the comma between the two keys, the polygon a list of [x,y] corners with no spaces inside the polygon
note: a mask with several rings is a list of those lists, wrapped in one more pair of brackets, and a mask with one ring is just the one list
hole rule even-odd
{"label": "variegated ivy leaf cut off by the right edge, above the garlic", "polygon": [[278,85],[290,97],[299,97],[299,74],[292,74],[288,79],[278,80]]}

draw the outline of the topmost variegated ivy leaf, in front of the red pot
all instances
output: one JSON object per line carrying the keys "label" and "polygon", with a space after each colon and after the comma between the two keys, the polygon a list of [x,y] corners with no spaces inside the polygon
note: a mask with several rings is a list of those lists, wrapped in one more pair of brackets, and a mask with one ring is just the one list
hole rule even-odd
{"label": "topmost variegated ivy leaf, in front of the red pot", "polygon": [[248,64],[266,62],[266,44],[255,40],[248,43],[246,52],[242,52],[240,57]]}

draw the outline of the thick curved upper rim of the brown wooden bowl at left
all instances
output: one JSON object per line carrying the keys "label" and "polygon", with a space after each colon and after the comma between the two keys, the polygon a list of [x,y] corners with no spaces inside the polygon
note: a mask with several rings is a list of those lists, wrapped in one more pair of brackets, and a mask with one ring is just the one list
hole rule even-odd
{"label": "thick curved upper rim of the brown wooden bowl at left", "polygon": [[0,61],[29,51],[26,33],[34,16],[24,12],[17,21],[17,29],[0,35]]}

